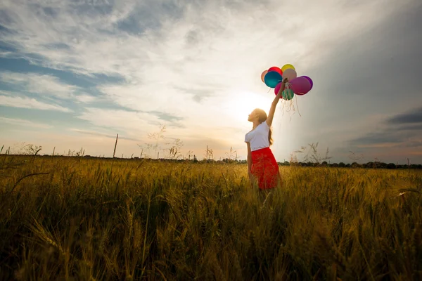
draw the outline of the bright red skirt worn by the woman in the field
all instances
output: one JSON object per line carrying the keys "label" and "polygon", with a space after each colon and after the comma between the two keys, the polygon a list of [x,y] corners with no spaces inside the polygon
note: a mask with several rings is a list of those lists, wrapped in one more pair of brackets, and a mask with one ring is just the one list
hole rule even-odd
{"label": "bright red skirt worn by the woman in the field", "polygon": [[251,172],[260,189],[276,188],[279,183],[279,164],[269,148],[252,151]]}

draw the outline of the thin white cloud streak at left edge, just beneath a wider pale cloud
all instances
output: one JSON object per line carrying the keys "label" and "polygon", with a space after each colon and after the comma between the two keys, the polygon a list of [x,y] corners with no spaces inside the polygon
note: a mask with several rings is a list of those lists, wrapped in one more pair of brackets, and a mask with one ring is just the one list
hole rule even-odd
{"label": "thin white cloud streak at left edge, just beneath a wider pale cloud", "polygon": [[[0,93],[5,93],[0,91]],[[34,98],[21,98],[15,96],[0,96],[0,105],[10,107],[31,108],[36,110],[55,110],[61,112],[72,112],[72,110],[62,107],[60,105],[52,105],[49,103],[40,102]]]}

